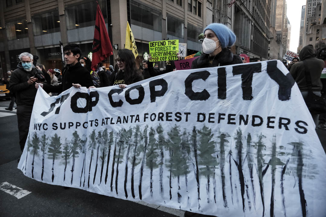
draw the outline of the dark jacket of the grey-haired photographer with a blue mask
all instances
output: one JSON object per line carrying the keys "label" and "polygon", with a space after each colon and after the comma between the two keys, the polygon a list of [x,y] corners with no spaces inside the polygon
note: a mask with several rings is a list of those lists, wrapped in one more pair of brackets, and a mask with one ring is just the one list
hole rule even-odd
{"label": "dark jacket of the grey-haired photographer with a blue mask", "polygon": [[11,73],[8,88],[10,92],[16,93],[17,105],[33,106],[37,89],[34,83],[28,84],[27,81],[30,77],[34,76],[35,72],[43,75],[33,64],[32,71],[28,72],[22,67],[22,62],[19,62],[17,69]]}

